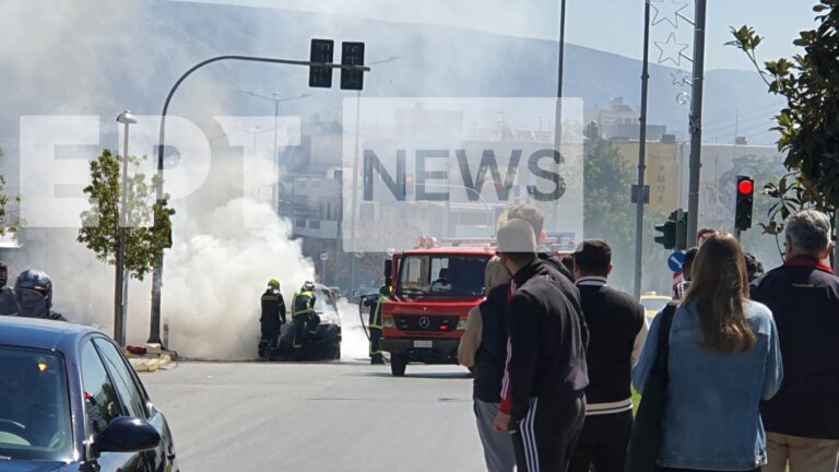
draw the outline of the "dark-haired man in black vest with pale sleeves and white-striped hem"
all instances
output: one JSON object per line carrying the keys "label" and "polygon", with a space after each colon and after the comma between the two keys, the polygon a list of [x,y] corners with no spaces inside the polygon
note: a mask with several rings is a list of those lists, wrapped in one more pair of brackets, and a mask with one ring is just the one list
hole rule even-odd
{"label": "dark-haired man in black vest with pale sleeves and white-striped hem", "polygon": [[633,432],[630,373],[647,339],[643,307],[611,288],[612,248],[587,239],[574,252],[574,278],[589,328],[586,423],[571,456],[571,472],[623,472]]}

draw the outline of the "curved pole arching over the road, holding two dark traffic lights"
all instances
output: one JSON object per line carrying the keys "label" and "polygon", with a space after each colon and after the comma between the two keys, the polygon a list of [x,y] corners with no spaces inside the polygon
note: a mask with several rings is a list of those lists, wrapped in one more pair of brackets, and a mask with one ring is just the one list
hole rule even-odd
{"label": "curved pole arching over the road, holding two dark traffic lights", "polygon": [[[324,63],[324,62],[312,62],[312,61],[300,61],[300,60],[292,60],[292,59],[276,59],[276,58],[267,58],[267,57],[258,57],[258,56],[217,56],[214,58],[206,59],[204,61],[201,61],[192,68],[190,68],[188,71],[186,71],[178,80],[175,82],[175,85],[172,86],[169,90],[169,94],[166,95],[166,101],[163,103],[163,111],[161,113],[161,129],[157,140],[157,178],[158,184],[156,186],[156,199],[157,203],[163,205],[165,203],[165,193],[163,192],[163,149],[165,146],[165,138],[166,138],[166,114],[169,110],[169,103],[172,102],[172,97],[175,95],[175,92],[178,90],[180,84],[187,80],[188,76],[192,74],[192,72],[201,69],[204,66],[224,61],[224,60],[235,60],[235,61],[247,61],[247,62],[268,62],[268,63],[280,63],[280,64],[287,64],[287,66],[304,66],[304,67],[322,67],[322,68],[329,68],[329,69],[348,69],[348,70],[358,70],[367,72],[370,70],[369,67],[366,66],[344,66],[344,64],[335,64],[335,63]],[[156,215],[155,215],[156,216]],[[155,227],[158,227],[157,221],[154,222]],[[151,326],[149,327],[149,343],[161,343],[161,292],[163,288],[163,252],[161,252],[161,256],[155,261],[154,266],[154,272],[152,274],[152,312],[151,312]]]}

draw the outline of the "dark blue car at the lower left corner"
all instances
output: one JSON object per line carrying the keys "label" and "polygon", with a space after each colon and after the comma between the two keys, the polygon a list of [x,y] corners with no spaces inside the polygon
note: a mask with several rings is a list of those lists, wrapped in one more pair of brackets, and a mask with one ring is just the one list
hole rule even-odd
{"label": "dark blue car at the lower left corner", "polygon": [[178,471],[163,413],[106,334],[0,317],[0,471]]}

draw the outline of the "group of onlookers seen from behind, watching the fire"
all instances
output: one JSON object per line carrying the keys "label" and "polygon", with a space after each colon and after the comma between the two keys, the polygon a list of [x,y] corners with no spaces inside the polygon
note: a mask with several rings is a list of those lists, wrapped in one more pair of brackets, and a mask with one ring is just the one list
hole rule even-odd
{"label": "group of onlookers seen from behind, watching the fire", "polygon": [[[705,238],[652,320],[608,286],[608,244],[559,260],[540,253],[543,223],[530,205],[506,213],[461,340],[489,471],[837,471],[839,276],[824,213],[787,220],[784,263],[765,274],[736,237]],[[633,386],[649,393],[637,418]]]}

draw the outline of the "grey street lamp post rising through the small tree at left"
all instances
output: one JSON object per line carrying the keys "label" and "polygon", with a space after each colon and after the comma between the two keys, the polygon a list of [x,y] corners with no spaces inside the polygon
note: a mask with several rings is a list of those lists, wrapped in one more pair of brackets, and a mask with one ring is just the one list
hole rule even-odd
{"label": "grey street lamp post rising through the small tree at left", "polygon": [[120,185],[119,226],[117,227],[116,280],[114,283],[114,340],[120,346],[126,345],[126,302],[128,300],[128,281],[126,280],[126,226],[128,214],[128,127],[137,122],[131,111],[119,114],[117,122],[125,125],[122,137],[122,185]]}

